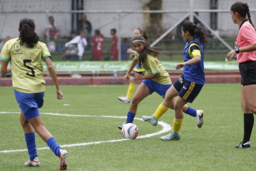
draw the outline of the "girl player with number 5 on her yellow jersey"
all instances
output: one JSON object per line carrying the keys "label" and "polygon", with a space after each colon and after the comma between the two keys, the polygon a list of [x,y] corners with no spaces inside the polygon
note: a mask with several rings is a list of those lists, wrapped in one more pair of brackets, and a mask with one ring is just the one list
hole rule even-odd
{"label": "girl player with number 5 on her yellow jersey", "polygon": [[[57,157],[60,157],[60,170],[66,170],[68,165],[66,150],[57,144],[53,135],[44,127],[38,108],[43,105],[45,81],[43,79],[42,62],[47,64],[47,69],[56,87],[57,98],[62,99],[63,94],[57,82],[57,76],[51,63],[51,54],[46,44],[39,42],[35,32],[34,20],[21,19],[18,27],[19,38],[13,38],[5,43],[1,51],[1,74],[12,71],[12,86],[16,101],[21,108],[20,121],[25,133],[25,141],[29,153],[29,161],[25,166],[40,166],[36,152],[35,131]],[[8,67],[10,62],[11,68]]]}

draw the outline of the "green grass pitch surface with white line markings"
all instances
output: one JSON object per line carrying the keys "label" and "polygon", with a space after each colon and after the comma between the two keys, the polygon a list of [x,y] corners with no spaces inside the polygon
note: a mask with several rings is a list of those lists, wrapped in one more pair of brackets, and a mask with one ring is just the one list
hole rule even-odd
{"label": "green grass pitch surface with white line markings", "polygon": [[[136,86],[137,87],[137,86]],[[48,86],[40,114],[47,129],[60,145],[122,139],[118,125],[120,118],[51,116],[43,113],[126,116],[129,105],[118,101],[128,86],[62,86],[64,99],[57,100],[55,87]],[[26,149],[23,130],[19,123],[20,109],[13,88],[0,87],[1,114],[0,151]],[[140,103],[136,118],[151,115],[162,102],[156,93]],[[64,105],[68,104],[68,105]],[[137,140],[105,142],[87,146],[65,147],[68,150],[69,170],[254,170],[256,157],[255,134],[250,150],[237,149],[242,141],[243,115],[240,107],[240,84],[206,84],[194,103],[195,109],[205,111],[204,124],[197,128],[196,120],[184,114],[181,140],[164,142],[155,135]],[[174,111],[162,118],[172,125]],[[139,135],[162,129],[149,122],[135,120]],[[46,147],[36,135],[37,148]],[[39,168],[25,168],[27,151],[0,153],[0,170],[58,170],[59,159],[51,150],[38,150]],[[249,158],[248,158],[249,157]]]}

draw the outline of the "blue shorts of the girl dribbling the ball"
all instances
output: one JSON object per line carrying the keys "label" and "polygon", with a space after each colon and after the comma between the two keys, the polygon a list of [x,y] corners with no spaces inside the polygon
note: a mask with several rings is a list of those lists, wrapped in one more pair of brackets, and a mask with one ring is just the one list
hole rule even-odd
{"label": "blue shorts of the girl dribbling the ball", "polygon": [[172,86],[172,84],[163,85],[161,83],[157,83],[152,79],[143,79],[142,83],[146,84],[149,88],[149,93],[152,94],[153,92],[157,92],[162,97],[166,96],[166,91]]}

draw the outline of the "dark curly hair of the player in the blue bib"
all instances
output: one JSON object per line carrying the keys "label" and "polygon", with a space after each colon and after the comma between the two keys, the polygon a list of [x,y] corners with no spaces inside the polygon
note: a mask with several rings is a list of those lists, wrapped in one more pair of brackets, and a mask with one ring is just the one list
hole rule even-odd
{"label": "dark curly hair of the player in the blue bib", "polygon": [[182,30],[184,32],[188,31],[193,38],[199,38],[203,43],[203,47],[207,47],[209,38],[207,38],[205,31],[200,25],[194,25],[192,22],[185,22],[182,25]]}

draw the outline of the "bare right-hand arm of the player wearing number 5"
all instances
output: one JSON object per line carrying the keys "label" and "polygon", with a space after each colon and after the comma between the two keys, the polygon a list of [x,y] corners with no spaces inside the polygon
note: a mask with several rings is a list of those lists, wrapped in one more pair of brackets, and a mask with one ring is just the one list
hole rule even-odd
{"label": "bare right-hand arm of the player wearing number 5", "polygon": [[60,90],[60,86],[57,81],[57,75],[56,75],[53,63],[51,62],[51,58],[50,57],[45,58],[44,62],[45,62],[45,64],[47,64],[47,70],[50,73],[51,79],[53,79],[53,82],[55,83],[55,87],[56,87],[56,91],[57,91],[57,98],[62,99],[64,95],[62,94],[62,90]]}

